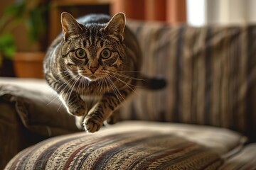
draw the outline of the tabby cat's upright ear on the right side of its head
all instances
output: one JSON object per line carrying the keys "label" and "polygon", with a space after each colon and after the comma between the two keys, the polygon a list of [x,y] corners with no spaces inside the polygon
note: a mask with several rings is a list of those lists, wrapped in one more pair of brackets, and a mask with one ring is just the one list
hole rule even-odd
{"label": "tabby cat's upright ear on the right side of its head", "polygon": [[117,38],[123,41],[124,28],[125,28],[124,13],[117,13],[111,18],[110,22],[107,23],[105,30],[107,30],[107,33],[109,33],[110,35],[115,35],[117,36]]}

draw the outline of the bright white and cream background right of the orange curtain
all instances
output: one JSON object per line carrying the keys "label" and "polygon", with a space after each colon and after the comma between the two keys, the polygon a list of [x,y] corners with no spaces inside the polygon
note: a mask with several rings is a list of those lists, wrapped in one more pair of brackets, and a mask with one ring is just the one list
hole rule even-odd
{"label": "bright white and cream background right of the orange curtain", "polygon": [[186,0],[193,26],[256,23],[255,0]]}

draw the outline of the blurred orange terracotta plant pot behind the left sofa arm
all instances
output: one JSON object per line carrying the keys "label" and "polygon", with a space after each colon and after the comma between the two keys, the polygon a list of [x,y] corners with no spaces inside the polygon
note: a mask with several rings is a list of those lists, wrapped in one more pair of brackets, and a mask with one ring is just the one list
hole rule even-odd
{"label": "blurred orange terracotta plant pot behind the left sofa arm", "polygon": [[16,52],[14,55],[14,72],[20,78],[43,79],[44,52]]}

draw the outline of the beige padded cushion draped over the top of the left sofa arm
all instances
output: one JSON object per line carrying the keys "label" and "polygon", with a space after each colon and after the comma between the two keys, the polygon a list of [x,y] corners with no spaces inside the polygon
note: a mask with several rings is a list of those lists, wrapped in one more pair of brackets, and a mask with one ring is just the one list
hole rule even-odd
{"label": "beige padded cushion draped over the top of the left sofa arm", "polygon": [[[1,79],[0,102],[14,108],[23,125],[38,135],[46,137],[78,132],[75,118],[67,113],[46,81],[35,79]],[[1,118],[9,111],[1,107]]]}

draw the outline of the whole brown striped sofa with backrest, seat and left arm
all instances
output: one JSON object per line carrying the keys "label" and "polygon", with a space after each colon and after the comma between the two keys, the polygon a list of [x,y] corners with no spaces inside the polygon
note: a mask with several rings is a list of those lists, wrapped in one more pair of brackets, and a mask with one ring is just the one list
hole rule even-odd
{"label": "whole brown striped sofa with backrest, seat and left arm", "polygon": [[0,169],[256,169],[256,26],[127,24],[166,87],[86,133],[45,80],[1,77]]}

